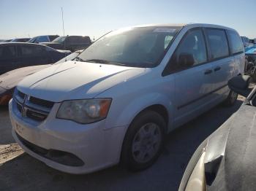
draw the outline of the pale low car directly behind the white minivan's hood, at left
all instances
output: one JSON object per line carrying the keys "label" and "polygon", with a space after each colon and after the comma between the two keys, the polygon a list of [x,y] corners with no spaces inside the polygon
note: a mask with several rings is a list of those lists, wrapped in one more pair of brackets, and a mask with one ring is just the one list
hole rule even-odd
{"label": "pale low car directly behind the white minivan's hood, at left", "polygon": [[[58,62],[54,64],[63,63],[66,61],[72,61],[75,59],[80,52],[83,52],[83,50],[77,50],[75,52],[72,52],[72,54],[66,56],[65,58],[62,58]],[[34,74],[37,71],[40,71],[42,69],[46,69],[50,66],[53,66],[52,64],[45,64],[45,65],[38,65],[38,66],[27,66],[20,69],[15,69],[12,71],[8,71],[7,73],[0,75],[0,105],[6,105],[12,98],[12,93],[18,85],[18,82],[20,82],[23,78]]]}

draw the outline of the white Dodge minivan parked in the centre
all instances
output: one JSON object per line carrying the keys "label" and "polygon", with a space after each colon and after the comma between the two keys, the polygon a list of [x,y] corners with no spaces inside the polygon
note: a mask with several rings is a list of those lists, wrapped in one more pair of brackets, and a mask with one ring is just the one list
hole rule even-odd
{"label": "white Dodge minivan parked in the centre", "polygon": [[167,133],[223,101],[234,104],[227,81],[243,73],[244,47],[232,28],[122,28],[74,61],[23,79],[10,101],[12,135],[60,171],[119,162],[142,170],[157,160]]}

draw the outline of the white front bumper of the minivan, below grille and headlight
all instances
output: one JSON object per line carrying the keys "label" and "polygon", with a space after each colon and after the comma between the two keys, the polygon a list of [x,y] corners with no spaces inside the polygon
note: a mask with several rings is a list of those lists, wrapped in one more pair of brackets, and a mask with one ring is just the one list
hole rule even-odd
{"label": "white front bumper of the minivan, below grille and headlight", "polygon": [[[105,120],[83,125],[56,119],[58,104],[53,106],[45,121],[30,122],[20,116],[12,102],[9,104],[12,136],[29,155],[46,165],[70,174],[86,174],[118,163],[126,127],[105,129]],[[45,150],[67,152],[83,163],[77,166],[57,163],[35,152],[28,144],[24,144],[24,140]]]}

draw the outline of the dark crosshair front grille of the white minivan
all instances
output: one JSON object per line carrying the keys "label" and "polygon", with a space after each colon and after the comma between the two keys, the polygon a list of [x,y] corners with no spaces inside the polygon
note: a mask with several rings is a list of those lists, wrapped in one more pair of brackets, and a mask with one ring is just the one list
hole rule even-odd
{"label": "dark crosshair front grille of the white minivan", "polygon": [[54,105],[52,101],[29,96],[19,90],[15,93],[14,98],[21,116],[37,122],[44,121]]}

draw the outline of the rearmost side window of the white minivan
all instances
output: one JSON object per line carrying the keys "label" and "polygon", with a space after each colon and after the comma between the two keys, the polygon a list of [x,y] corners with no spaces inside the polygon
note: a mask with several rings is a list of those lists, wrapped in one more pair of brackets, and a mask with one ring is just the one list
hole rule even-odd
{"label": "rearmost side window of the white minivan", "polygon": [[236,31],[227,31],[227,37],[228,41],[230,42],[230,50],[232,54],[244,52],[243,42]]}

